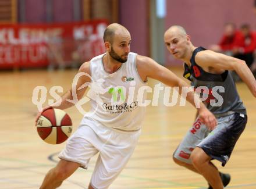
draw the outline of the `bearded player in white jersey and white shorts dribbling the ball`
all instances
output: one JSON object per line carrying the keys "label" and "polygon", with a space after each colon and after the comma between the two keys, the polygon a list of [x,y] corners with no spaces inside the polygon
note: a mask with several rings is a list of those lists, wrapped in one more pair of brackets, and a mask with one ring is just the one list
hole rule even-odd
{"label": "bearded player in white jersey and white shorts dribbling the ball", "polygon": [[[91,102],[91,111],[84,115],[80,127],[67,141],[65,149],[59,154],[61,160],[54,169],[49,170],[41,189],[61,186],[62,181],[78,167],[86,169],[91,157],[98,152],[98,160],[88,188],[108,188],[125,167],[140,136],[145,107],[140,106],[136,98],[130,97],[125,98],[122,104],[113,105],[111,100],[115,87],[122,86],[122,90],[128,90],[132,85],[133,91],[127,91],[126,94],[134,92],[134,97],[137,97],[140,88],[147,85],[148,77],[169,86],[189,87],[151,58],[130,52],[130,33],[120,24],[111,24],[106,28],[104,42],[106,53],[81,65],[79,72],[87,73],[94,81],[103,79],[102,87],[109,90],[99,94],[102,104]],[[87,76],[80,77],[76,86],[79,99],[83,97],[86,88],[78,88],[91,79]],[[119,93],[122,90],[118,88]],[[195,98],[194,92],[187,94],[187,101],[194,106]],[[67,99],[73,99],[71,91],[62,96],[61,105],[56,108],[66,109],[73,106]],[[47,108],[49,107],[44,109]],[[216,119],[201,102],[198,112],[202,122],[213,129]]]}

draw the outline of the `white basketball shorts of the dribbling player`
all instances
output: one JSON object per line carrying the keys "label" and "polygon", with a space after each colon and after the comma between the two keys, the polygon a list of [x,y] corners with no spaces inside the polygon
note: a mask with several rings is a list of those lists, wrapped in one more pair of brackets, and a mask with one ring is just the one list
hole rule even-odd
{"label": "white basketball shorts of the dribbling player", "polygon": [[90,159],[99,152],[91,186],[108,188],[129,161],[140,133],[116,131],[84,117],[59,158],[80,163],[87,169]]}

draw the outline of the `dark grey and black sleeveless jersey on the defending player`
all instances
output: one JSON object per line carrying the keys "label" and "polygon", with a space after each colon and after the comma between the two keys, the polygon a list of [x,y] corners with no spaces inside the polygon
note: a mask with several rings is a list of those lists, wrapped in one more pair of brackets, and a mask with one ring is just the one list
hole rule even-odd
{"label": "dark grey and black sleeveless jersey on the defending player", "polygon": [[194,91],[200,94],[205,106],[215,115],[223,115],[227,112],[246,114],[246,108],[230,72],[225,70],[222,74],[208,73],[195,62],[195,55],[204,50],[205,48],[198,47],[193,51],[190,58],[191,67],[184,63],[183,76],[191,81]]}

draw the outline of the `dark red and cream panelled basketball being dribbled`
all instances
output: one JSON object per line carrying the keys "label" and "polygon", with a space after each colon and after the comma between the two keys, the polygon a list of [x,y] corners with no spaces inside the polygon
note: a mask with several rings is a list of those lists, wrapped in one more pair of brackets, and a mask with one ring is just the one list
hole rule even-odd
{"label": "dark red and cream panelled basketball being dribbled", "polygon": [[37,133],[49,144],[61,144],[72,133],[72,121],[61,109],[47,109],[37,120]]}

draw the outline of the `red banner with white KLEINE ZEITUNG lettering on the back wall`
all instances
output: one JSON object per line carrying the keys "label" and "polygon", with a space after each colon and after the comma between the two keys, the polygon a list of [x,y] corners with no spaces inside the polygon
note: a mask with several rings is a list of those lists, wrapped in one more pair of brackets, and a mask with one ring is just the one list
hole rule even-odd
{"label": "red banner with white KLEINE ZEITUNG lettering on the back wall", "polygon": [[84,62],[102,54],[105,20],[0,24],[0,69]]}

